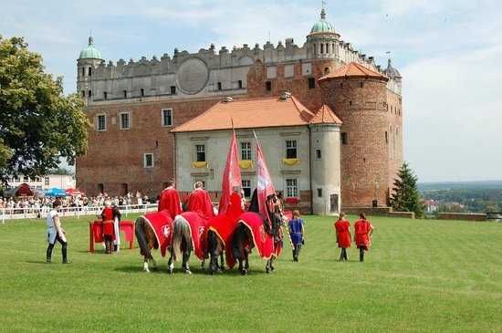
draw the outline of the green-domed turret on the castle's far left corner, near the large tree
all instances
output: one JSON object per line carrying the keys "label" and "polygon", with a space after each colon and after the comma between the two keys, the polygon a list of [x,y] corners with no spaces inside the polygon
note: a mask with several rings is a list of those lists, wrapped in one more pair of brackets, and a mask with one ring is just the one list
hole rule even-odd
{"label": "green-domed turret on the castle's far left corner, near the large tree", "polygon": [[77,59],[77,92],[82,98],[92,99],[92,74],[103,62],[101,52],[94,47],[94,39],[89,36],[89,46],[80,51]]}

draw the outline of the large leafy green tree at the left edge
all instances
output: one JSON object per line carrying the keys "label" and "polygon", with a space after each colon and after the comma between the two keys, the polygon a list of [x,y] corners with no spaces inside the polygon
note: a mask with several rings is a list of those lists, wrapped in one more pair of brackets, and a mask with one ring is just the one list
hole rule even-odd
{"label": "large leafy green tree at the left edge", "polygon": [[0,181],[37,177],[87,151],[89,120],[78,95],[44,72],[23,38],[0,36]]}

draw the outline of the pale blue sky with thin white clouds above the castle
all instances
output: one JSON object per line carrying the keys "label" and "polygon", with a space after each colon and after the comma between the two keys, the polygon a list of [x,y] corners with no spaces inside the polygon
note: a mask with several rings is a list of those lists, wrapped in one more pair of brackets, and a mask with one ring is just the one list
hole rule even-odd
{"label": "pale blue sky with thin white clouds above the castle", "polygon": [[[403,75],[404,156],[420,182],[502,179],[502,2],[327,0],[341,38]],[[321,1],[0,0],[0,35],[24,36],[76,88],[89,33],[107,61],[287,37],[303,45]],[[335,110],[336,111],[336,110]]]}

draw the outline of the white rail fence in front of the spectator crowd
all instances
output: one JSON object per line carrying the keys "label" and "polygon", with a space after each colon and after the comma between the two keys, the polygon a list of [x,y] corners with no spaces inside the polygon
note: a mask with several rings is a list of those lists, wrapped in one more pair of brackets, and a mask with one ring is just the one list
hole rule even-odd
{"label": "white rail fence in front of the spectator crowd", "polygon": [[[103,207],[79,206],[59,208],[58,212],[61,217],[76,216],[77,218],[80,218],[80,216],[86,215],[98,216],[102,210]],[[129,213],[146,213],[156,211],[157,203],[128,204],[119,206],[119,210],[122,217],[127,217]],[[0,218],[2,219],[2,224],[5,224],[5,220],[46,218],[49,211],[49,207],[2,208],[0,209]]]}

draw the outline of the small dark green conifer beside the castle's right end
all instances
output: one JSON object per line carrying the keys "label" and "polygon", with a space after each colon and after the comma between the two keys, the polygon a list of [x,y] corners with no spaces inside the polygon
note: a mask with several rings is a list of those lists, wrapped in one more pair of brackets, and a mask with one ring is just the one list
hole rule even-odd
{"label": "small dark green conifer beside the castle's right end", "polygon": [[422,217],[424,205],[416,186],[417,180],[408,164],[403,163],[392,189],[391,206],[394,211],[413,212],[416,217]]}

